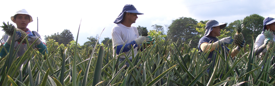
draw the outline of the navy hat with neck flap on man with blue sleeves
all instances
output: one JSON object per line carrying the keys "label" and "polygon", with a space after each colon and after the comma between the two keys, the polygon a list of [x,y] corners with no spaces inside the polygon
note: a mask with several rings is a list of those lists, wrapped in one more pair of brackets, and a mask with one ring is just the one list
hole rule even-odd
{"label": "navy hat with neck flap on man with blue sleeves", "polygon": [[122,22],[122,19],[123,19],[123,15],[125,13],[137,13],[137,15],[141,15],[143,13],[141,13],[140,11],[137,11],[136,8],[134,7],[134,5],[131,5],[131,4],[127,4],[123,7],[123,10],[122,12],[119,14],[119,16],[117,17],[117,19],[115,19],[114,23],[115,24],[119,24]]}

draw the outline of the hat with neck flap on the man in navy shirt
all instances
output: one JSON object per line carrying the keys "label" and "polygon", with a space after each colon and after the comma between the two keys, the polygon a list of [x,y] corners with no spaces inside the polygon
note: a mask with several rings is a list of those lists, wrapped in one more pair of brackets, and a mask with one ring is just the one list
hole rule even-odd
{"label": "hat with neck flap on the man in navy shirt", "polygon": [[226,23],[219,23],[216,20],[207,21],[206,26],[205,26],[206,31],[205,31],[204,36],[208,36],[210,34],[210,32],[213,30],[213,27],[216,27],[216,26],[220,26],[220,29],[222,29],[222,28],[225,28]]}

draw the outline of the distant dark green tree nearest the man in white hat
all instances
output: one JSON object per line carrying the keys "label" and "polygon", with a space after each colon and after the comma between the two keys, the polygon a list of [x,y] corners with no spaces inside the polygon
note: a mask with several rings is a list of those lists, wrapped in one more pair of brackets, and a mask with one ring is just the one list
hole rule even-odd
{"label": "distant dark green tree nearest the man in white hat", "polygon": [[55,34],[51,34],[50,36],[45,36],[45,40],[49,41],[49,39],[55,40],[55,42],[58,42],[58,44],[64,44],[67,46],[69,42],[74,40],[74,36],[70,30],[65,29],[63,32],[59,34],[59,32]]}

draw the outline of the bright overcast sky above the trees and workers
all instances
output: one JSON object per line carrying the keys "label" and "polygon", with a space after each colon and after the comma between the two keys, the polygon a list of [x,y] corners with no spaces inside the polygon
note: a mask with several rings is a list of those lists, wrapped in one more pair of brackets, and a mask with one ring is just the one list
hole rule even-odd
{"label": "bright overcast sky above the trees and workers", "polygon": [[[275,0],[2,0],[0,21],[12,22],[10,17],[18,9],[26,9],[33,17],[27,28],[37,30],[38,17],[38,32],[43,39],[45,35],[68,29],[76,40],[82,19],[78,43],[83,45],[89,41],[88,37],[95,37],[103,28],[100,42],[106,37],[111,38],[111,29],[116,25],[113,21],[126,4],[132,4],[144,13],[138,15],[132,25],[149,30],[153,30],[151,26],[154,24],[170,25],[179,17],[191,17],[198,22],[215,19],[220,23],[231,23],[251,14],[275,17]],[[3,34],[0,31],[0,36]]]}

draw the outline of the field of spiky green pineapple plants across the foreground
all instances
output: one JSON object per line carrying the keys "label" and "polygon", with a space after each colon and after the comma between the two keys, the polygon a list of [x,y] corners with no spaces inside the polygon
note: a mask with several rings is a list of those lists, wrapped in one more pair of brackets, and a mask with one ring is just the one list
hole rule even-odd
{"label": "field of spiky green pineapple plants across the foreground", "polygon": [[[79,28],[78,28],[79,32]],[[156,32],[157,33],[157,32]],[[151,35],[152,33],[149,33]],[[152,36],[152,35],[151,35]],[[100,37],[100,36],[99,36]],[[191,49],[191,42],[163,42],[156,38],[155,47],[148,47],[134,56],[120,53],[113,56],[110,45],[96,46],[92,53],[78,49],[76,41],[64,47],[48,42],[48,54],[31,47],[23,56],[11,50],[0,58],[2,86],[272,86],[275,85],[274,50],[263,58],[250,50],[241,50],[235,59],[220,50],[216,59],[206,59],[209,52]],[[253,39],[254,40],[254,39]],[[27,42],[27,41],[26,41]],[[98,41],[97,41],[98,42]],[[28,43],[28,42],[27,42]],[[165,43],[165,46],[160,46]],[[233,49],[236,46],[232,46]],[[3,48],[3,49],[2,49]],[[3,46],[1,50],[5,50]],[[133,49],[133,48],[132,48]],[[6,51],[6,50],[5,50]],[[7,52],[7,51],[6,51]],[[218,52],[218,51],[214,51]],[[126,60],[119,62],[121,55]],[[213,55],[214,57],[215,55]],[[132,62],[128,58],[132,57]],[[215,60],[215,61],[214,61]],[[126,67],[124,63],[130,62]],[[215,62],[215,63],[213,63]],[[209,70],[209,72],[207,72]]]}

